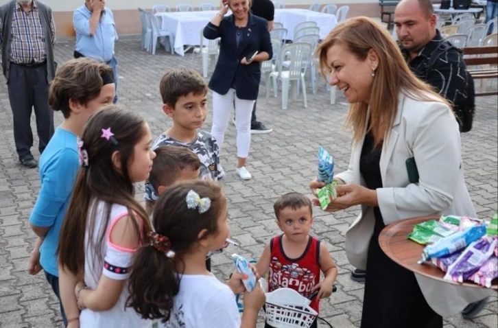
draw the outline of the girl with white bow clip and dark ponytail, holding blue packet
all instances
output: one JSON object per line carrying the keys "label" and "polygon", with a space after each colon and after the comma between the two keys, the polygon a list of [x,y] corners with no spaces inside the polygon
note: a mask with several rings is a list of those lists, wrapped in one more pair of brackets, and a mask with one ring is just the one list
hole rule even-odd
{"label": "girl with white bow clip and dark ponytail, holding blue packet", "polygon": [[220,185],[188,180],[169,187],[157,200],[153,224],[134,255],[127,306],[162,328],[256,327],[265,303],[259,283],[244,293],[240,318],[235,294],[245,291],[241,279],[247,277],[235,271],[225,284],[206,269],[207,253],[222,248],[230,234]]}

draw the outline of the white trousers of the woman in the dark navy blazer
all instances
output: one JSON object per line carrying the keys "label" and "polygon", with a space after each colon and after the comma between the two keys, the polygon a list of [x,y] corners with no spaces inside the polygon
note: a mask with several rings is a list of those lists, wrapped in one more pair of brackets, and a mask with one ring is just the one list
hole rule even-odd
{"label": "white trousers of the woman in the dark navy blazer", "polygon": [[237,128],[237,157],[246,159],[251,143],[251,115],[255,100],[237,98],[235,89],[226,95],[213,91],[213,127],[211,134],[216,138],[220,151],[225,139],[225,131],[230,121],[233,99],[235,98],[235,127]]}

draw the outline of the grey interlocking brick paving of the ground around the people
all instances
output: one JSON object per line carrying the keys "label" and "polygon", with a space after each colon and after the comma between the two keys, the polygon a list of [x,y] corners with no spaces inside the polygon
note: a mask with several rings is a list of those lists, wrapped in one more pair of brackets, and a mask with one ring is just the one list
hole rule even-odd
{"label": "grey interlocking brick paving of the ground around the people", "polygon": [[[159,50],[151,56],[139,50],[139,40],[117,43],[119,62],[119,104],[136,110],[149,121],[154,135],[165,130],[170,122],[161,112],[158,82],[165,69],[188,66],[200,71],[200,58],[192,60],[171,56]],[[56,59],[71,58],[72,41],[62,40],[56,46]],[[495,86],[496,87],[496,84]],[[226,279],[233,264],[229,254],[237,251],[246,257],[258,257],[270,236],[277,233],[272,203],[286,191],[308,193],[307,185],[315,174],[318,145],[333,153],[337,172],[349,160],[350,134],[342,131],[347,106],[344,99],[334,106],[320,82],[317,95],[310,95],[308,108],[302,100],[289,102],[282,110],[280,99],[265,104],[261,89],[258,118],[274,128],[272,134],[252,137],[252,153],[248,166],[254,178],[241,182],[235,177],[235,127],[228,128],[223,164],[226,169],[226,194],[230,200],[230,227],[241,250],[230,246],[225,255],[213,258],[213,272]],[[210,96],[211,99],[211,96]],[[342,102],[342,103],[341,103]],[[472,132],[462,136],[466,183],[469,186],[479,217],[489,217],[497,210],[497,97],[477,100],[478,110]],[[56,115],[59,124],[62,115]],[[32,126],[35,126],[34,119]],[[211,127],[211,114],[205,128]],[[35,145],[33,154],[38,159]],[[58,302],[43,274],[36,277],[26,272],[29,252],[35,237],[27,218],[33,207],[40,182],[36,169],[18,164],[12,135],[12,112],[7,87],[0,78],[0,327],[60,327]],[[140,192],[142,189],[140,188]],[[141,194],[137,195],[141,198]],[[352,281],[353,267],[344,252],[344,233],[355,218],[357,209],[335,215],[316,211],[313,233],[327,243],[339,267],[338,291],[322,301],[322,316],[336,328],[359,327],[364,285]],[[475,320],[457,315],[445,321],[446,327],[497,327],[497,297]],[[325,327],[324,325],[319,325]],[[260,326],[259,326],[260,327]],[[261,327],[263,327],[261,325]]]}

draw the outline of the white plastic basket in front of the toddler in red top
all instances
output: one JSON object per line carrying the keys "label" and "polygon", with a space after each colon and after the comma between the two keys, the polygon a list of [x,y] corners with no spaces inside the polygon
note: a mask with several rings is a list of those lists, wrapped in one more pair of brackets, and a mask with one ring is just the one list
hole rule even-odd
{"label": "white plastic basket in front of the toddler in red top", "polygon": [[290,288],[266,293],[266,323],[275,328],[309,328],[318,313],[311,301]]}

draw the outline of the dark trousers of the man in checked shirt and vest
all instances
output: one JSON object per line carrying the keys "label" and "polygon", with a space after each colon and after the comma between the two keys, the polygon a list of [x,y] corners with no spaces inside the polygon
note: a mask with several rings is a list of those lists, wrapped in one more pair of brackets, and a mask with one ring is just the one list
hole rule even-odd
{"label": "dark trousers of the man in checked shirt and vest", "polygon": [[10,108],[14,117],[14,141],[19,160],[32,159],[33,132],[31,113],[34,108],[40,154],[54,134],[54,112],[49,107],[47,64],[23,66],[10,63],[7,83]]}

